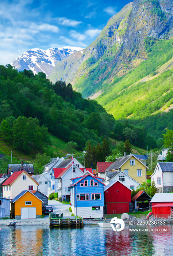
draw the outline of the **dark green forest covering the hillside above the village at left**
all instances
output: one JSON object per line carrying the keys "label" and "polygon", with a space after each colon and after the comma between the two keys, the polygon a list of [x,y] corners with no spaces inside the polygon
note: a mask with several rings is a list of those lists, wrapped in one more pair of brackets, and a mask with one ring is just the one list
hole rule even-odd
{"label": "dark green forest covering the hillside above the village at left", "polygon": [[64,142],[76,143],[79,151],[88,142],[102,147],[110,137],[128,139],[145,149],[158,146],[145,127],[115,121],[95,100],[82,98],[70,83],[53,84],[43,72],[34,75],[30,70],[18,72],[11,65],[1,65],[1,138],[30,154],[44,152],[50,144],[49,132]]}

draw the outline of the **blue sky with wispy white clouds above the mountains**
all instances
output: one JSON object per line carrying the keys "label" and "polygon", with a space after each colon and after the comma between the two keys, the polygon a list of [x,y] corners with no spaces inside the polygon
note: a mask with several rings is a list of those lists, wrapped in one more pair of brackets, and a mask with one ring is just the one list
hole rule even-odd
{"label": "blue sky with wispy white clouds above the mountains", "polygon": [[0,0],[0,65],[33,48],[86,48],[124,0]]}

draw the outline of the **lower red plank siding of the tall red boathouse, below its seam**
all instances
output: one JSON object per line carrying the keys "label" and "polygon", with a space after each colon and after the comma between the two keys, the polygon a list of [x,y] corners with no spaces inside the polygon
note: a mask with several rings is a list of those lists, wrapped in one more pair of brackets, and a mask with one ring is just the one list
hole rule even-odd
{"label": "lower red plank siding of the tall red boathouse, below its seam", "polygon": [[107,203],[107,214],[129,212],[129,203]]}

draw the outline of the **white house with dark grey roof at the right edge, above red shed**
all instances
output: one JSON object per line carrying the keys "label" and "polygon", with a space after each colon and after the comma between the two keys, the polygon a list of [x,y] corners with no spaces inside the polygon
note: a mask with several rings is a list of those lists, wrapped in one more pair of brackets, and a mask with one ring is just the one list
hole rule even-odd
{"label": "white house with dark grey roof at the right edge, above red shed", "polygon": [[173,191],[173,162],[157,163],[154,173],[151,175],[151,183],[155,182],[158,193]]}

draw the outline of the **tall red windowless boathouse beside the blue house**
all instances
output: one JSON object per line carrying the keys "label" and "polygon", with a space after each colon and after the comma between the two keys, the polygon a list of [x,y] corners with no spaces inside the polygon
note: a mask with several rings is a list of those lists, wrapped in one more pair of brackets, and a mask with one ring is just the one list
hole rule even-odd
{"label": "tall red windowless boathouse beside the blue house", "polygon": [[105,214],[129,212],[131,191],[119,180],[111,181],[105,186]]}

